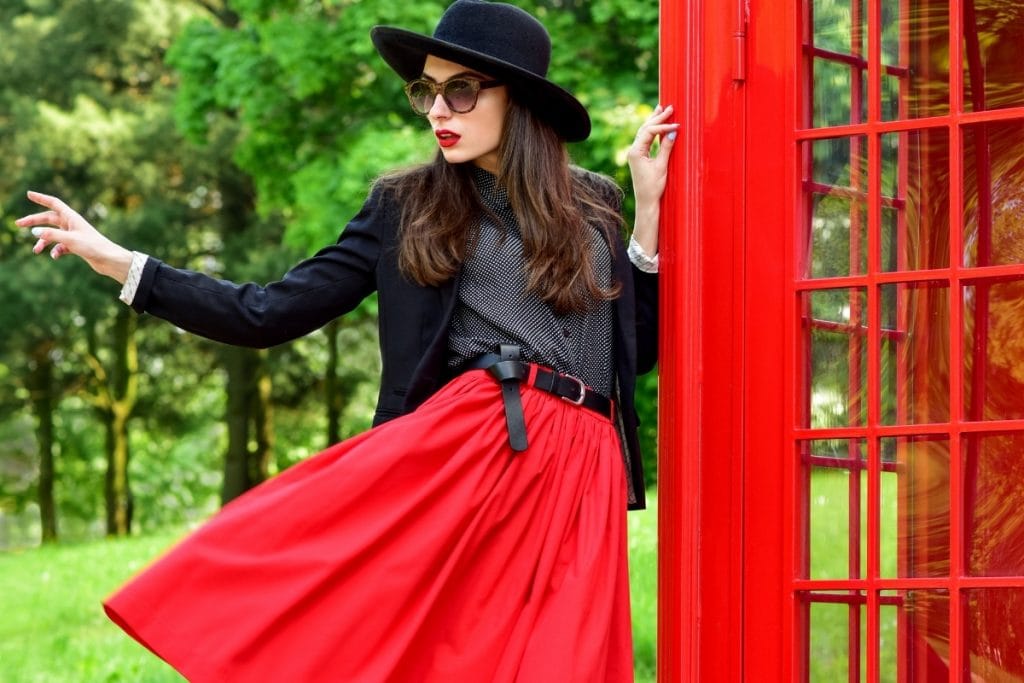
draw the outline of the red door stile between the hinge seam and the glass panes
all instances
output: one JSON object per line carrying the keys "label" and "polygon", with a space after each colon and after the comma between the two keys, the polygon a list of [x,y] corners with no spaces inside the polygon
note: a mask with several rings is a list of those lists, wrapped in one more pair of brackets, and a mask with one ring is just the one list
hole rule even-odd
{"label": "red door stile between the hinge seam and the glass panes", "polygon": [[[797,405],[785,387],[798,375],[794,331],[781,321],[796,315],[787,283],[796,271],[792,226],[797,224],[799,157],[793,131],[799,44],[796,2],[751,4],[748,127],[744,136],[745,244],[741,286],[743,325],[743,681],[794,680],[795,603],[782,589],[794,577],[796,479],[786,426]],[[714,229],[714,228],[711,228]],[[736,679],[732,679],[736,680]]]}

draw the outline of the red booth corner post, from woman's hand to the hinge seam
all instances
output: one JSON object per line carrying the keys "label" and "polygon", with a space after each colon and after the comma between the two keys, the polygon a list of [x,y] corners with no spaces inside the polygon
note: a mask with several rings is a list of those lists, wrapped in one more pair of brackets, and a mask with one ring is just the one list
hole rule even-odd
{"label": "red booth corner post, from woman's hand to the hinge seam", "polygon": [[662,2],[658,680],[742,678],[746,4]]}

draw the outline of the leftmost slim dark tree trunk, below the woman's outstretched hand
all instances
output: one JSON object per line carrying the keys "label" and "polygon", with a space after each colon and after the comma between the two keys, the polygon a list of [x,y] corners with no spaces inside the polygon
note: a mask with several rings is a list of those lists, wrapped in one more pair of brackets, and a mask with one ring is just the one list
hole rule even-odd
{"label": "leftmost slim dark tree trunk, below the woman's outstretched hand", "polygon": [[53,543],[57,540],[57,514],[54,503],[54,464],[53,464],[53,411],[56,396],[53,386],[53,360],[50,358],[50,345],[43,344],[32,350],[32,372],[29,376],[29,394],[32,397],[32,410],[36,414],[36,440],[39,445],[39,483],[37,500],[39,502],[39,521],[42,527],[43,543]]}

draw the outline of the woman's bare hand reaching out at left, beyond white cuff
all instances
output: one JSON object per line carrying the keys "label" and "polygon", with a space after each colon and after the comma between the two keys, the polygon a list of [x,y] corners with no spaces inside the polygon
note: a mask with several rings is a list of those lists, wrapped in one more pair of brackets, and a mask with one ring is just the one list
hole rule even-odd
{"label": "woman's bare hand reaching out at left, beyond white cuff", "polygon": [[124,284],[131,266],[130,251],[103,237],[58,198],[30,190],[29,199],[48,209],[15,221],[18,227],[31,227],[32,234],[39,238],[32,251],[39,254],[52,245],[50,256],[54,259],[74,254],[99,274]]}

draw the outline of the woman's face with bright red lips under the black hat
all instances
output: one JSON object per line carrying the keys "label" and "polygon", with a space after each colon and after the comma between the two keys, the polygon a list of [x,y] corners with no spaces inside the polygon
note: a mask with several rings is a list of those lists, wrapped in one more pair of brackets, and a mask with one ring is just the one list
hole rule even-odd
{"label": "woman's face with bright red lips under the black hat", "polygon": [[[457,76],[490,80],[486,74],[474,69],[433,55],[427,56],[423,66],[424,78],[443,83]],[[485,171],[498,173],[498,147],[502,141],[508,104],[508,88],[504,85],[480,90],[476,106],[466,114],[453,112],[444,98],[437,94],[427,113],[427,120],[445,161],[450,164],[473,162]]]}

